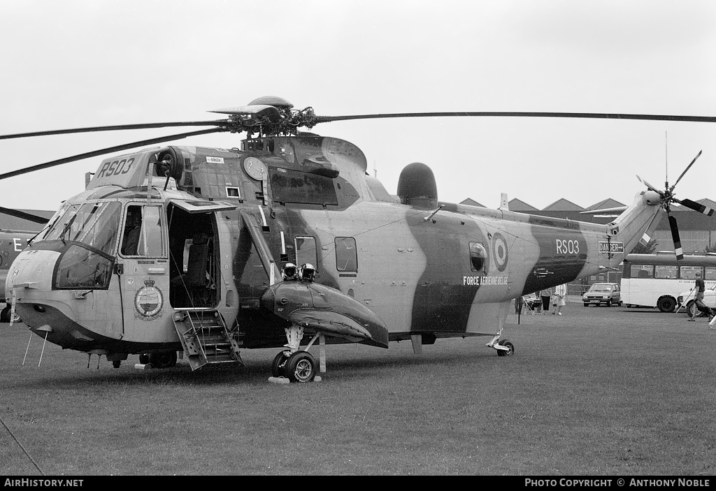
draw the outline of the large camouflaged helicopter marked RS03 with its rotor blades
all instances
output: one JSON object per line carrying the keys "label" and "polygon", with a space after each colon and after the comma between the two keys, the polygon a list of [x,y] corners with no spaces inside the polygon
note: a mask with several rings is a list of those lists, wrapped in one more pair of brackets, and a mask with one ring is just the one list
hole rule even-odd
{"label": "large camouflaged helicopter marked RS03 with its rotor blades", "polygon": [[[279,348],[271,379],[311,382],[334,343],[387,348],[489,337],[500,357],[513,299],[617,267],[673,203],[712,214],[675,185],[646,189],[609,224],[440,202],[432,170],[414,162],[390,194],[354,144],[302,131],[348,119],[518,116],[706,121],[707,116],[601,113],[400,113],[318,116],[266,96],[213,111],[214,121],[88,127],[0,139],[207,126],[0,174],[212,132],[246,133],[240,148],[155,146],[102,159],[84,192],[63,202],[11,264],[14,312],[46,341],[115,367],[192,370],[241,364],[241,349]],[[637,176],[638,177],[638,176]],[[314,348],[318,359],[309,350]]]}

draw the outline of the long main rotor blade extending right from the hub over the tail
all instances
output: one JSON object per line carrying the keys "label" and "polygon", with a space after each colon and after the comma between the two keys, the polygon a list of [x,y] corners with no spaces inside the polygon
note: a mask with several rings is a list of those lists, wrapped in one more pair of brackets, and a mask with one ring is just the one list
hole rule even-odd
{"label": "long main rotor blade extending right from the hub over the tail", "polygon": [[586,119],[641,119],[644,121],[692,121],[716,123],[716,116],[674,116],[669,114],[617,114],[599,112],[500,112],[500,111],[456,111],[456,112],[400,112],[391,114],[354,114],[352,116],[316,116],[316,123],[347,121],[350,119],[421,118],[440,116],[483,116],[483,117],[536,117],[536,118],[586,118]]}

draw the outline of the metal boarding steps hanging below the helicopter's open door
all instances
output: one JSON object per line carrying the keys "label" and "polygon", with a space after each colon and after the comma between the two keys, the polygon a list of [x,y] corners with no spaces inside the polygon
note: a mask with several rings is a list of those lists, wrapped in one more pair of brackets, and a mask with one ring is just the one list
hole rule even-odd
{"label": "metal boarding steps hanging below the helicopter's open door", "polygon": [[187,309],[172,315],[191,370],[207,364],[240,363],[238,326],[229,330],[221,313],[211,309]]}

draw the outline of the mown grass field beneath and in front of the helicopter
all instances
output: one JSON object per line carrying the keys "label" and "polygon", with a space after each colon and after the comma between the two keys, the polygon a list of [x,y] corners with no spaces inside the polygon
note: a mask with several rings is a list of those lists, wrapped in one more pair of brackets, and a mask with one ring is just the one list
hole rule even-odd
{"label": "mown grass field beneath and in front of the helicopter", "polygon": [[[0,324],[0,417],[47,475],[714,475],[716,331],[651,309],[508,317],[412,354],[326,349],[323,382],[119,369]],[[0,474],[39,475],[0,427]]]}

